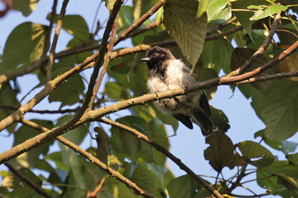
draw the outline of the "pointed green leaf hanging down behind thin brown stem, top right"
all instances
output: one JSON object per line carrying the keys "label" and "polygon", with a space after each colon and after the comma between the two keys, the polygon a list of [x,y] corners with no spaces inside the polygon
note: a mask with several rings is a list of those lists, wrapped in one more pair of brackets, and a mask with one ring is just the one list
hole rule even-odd
{"label": "pointed green leaf hanging down behind thin brown stem, top right", "polygon": [[[246,9],[250,5],[263,5],[264,2],[265,1],[263,0],[233,1],[232,9]],[[237,11],[234,12],[234,14],[237,17],[237,20],[241,23],[241,26],[246,30],[249,37],[252,39],[252,24],[254,24],[256,21],[249,20],[249,18],[251,18],[254,15],[254,13],[246,11]]]}

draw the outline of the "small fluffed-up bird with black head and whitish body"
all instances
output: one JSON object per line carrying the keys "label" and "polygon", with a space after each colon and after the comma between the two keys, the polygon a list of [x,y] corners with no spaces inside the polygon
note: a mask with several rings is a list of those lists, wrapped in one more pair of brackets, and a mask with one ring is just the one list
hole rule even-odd
{"label": "small fluffed-up bird with black head and whitish body", "polygon": [[[176,88],[186,90],[187,86],[198,83],[196,76],[191,75],[190,68],[165,48],[151,47],[141,60],[147,62],[149,69],[147,86],[150,94]],[[163,114],[172,115],[189,129],[193,129],[191,118],[194,118],[205,137],[218,129],[204,90],[172,99],[161,99],[154,101],[154,104]]]}

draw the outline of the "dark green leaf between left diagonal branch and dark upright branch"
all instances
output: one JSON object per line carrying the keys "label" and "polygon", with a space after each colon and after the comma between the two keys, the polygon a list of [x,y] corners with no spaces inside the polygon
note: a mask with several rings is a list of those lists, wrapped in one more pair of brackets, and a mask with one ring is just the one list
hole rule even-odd
{"label": "dark green leaf between left diagonal branch and dark upright branch", "polygon": [[[74,86],[75,85],[75,86]],[[85,89],[82,77],[75,75],[64,81],[49,95],[49,102],[60,101],[61,109],[65,105],[73,105],[80,101],[80,94],[83,95]]]}

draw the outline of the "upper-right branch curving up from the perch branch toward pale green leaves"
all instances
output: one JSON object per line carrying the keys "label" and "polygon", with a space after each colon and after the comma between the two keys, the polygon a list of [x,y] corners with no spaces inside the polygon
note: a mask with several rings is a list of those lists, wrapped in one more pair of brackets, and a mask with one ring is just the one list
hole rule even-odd
{"label": "upper-right branch curving up from the perch branch toward pale green leaves", "polygon": [[262,46],[254,53],[254,55],[252,55],[252,57],[248,61],[246,61],[246,63],[244,63],[241,67],[239,67],[235,71],[229,73],[227,77],[237,76],[241,74],[244,71],[244,69],[249,67],[255,60],[257,60],[261,56],[261,54],[267,49],[267,47],[271,43],[271,40],[273,38],[273,35],[276,32],[279,21],[280,21],[280,12],[276,14],[274,22],[269,31],[268,37],[264,40]]}

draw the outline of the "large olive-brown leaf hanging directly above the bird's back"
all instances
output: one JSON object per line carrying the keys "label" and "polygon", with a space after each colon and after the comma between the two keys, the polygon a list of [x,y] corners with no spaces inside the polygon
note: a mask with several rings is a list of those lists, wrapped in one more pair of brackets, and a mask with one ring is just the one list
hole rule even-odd
{"label": "large olive-brown leaf hanging directly above the bird's back", "polygon": [[164,26],[192,65],[201,55],[207,31],[205,14],[195,20],[197,7],[195,0],[173,0],[164,5]]}

